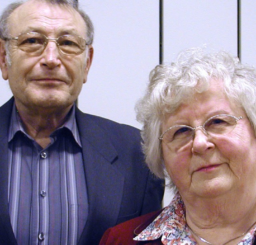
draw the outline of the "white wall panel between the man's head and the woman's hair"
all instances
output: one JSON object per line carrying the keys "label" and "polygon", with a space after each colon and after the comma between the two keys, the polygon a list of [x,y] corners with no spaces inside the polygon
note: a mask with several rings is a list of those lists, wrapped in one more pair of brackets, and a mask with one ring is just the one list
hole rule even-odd
{"label": "white wall panel between the man's head and the woman's hair", "polygon": [[134,104],[158,64],[158,1],[79,0],[95,26],[94,60],[79,108],[141,127]]}

